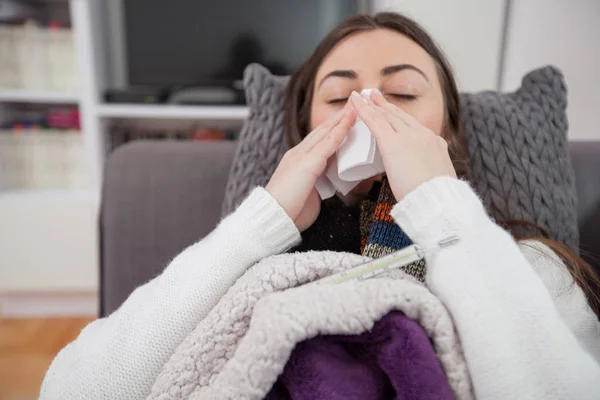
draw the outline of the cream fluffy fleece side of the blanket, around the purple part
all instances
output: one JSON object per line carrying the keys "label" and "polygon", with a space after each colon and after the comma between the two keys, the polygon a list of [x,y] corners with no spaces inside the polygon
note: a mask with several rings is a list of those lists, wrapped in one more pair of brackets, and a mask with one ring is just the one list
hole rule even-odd
{"label": "cream fluffy fleece side of the blanket, around the purple part", "polygon": [[308,252],[250,268],[177,348],[148,399],[264,398],[299,343],[360,335],[396,310],[429,336],[457,399],[473,399],[467,365],[441,301],[400,270],[337,285],[304,285],[352,268],[363,256]]}

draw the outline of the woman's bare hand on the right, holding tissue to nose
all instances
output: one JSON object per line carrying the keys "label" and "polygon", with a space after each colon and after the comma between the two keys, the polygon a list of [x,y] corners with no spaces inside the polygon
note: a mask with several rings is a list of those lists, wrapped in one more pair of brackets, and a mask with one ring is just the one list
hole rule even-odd
{"label": "woman's bare hand on the right, holding tissue to nose", "polygon": [[446,140],[388,102],[381,92],[374,90],[366,102],[353,92],[350,101],[377,141],[396,200],[432,178],[456,177]]}

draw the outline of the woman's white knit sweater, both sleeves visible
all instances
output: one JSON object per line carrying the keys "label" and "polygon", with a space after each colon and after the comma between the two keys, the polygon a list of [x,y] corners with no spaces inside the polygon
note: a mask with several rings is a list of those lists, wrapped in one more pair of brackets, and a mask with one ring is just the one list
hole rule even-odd
{"label": "woman's white knit sweater, both sleeves visible", "polygon": [[[478,399],[600,398],[600,323],[550,249],[517,245],[457,179],[422,184],[392,216],[426,250],[427,284],[456,323]],[[439,246],[448,237],[458,241]],[[257,188],[210,235],[66,346],[40,398],[145,398],[235,280],[299,241],[283,209]]]}

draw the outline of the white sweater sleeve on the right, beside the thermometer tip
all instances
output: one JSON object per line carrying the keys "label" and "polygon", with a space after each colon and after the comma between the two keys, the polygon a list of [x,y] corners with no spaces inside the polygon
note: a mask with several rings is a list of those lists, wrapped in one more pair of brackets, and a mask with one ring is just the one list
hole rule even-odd
{"label": "white sweater sleeve on the right, beside the thermometer tip", "polygon": [[[455,321],[478,399],[600,398],[598,360],[561,318],[555,288],[545,286],[551,280],[538,276],[467,183],[425,182],[392,216],[425,250],[427,284]],[[537,258],[536,268],[555,261]],[[584,305],[562,312],[581,311],[570,307]],[[597,318],[585,315],[580,328],[600,340]]]}

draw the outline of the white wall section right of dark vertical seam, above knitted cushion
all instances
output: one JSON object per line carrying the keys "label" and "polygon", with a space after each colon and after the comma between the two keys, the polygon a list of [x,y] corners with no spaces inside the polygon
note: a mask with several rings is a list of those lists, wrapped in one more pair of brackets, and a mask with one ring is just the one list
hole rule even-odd
{"label": "white wall section right of dark vertical seam, above knitted cushion", "polygon": [[569,90],[569,136],[600,140],[600,1],[513,1],[502,89],[523,74],[553,64]]}

